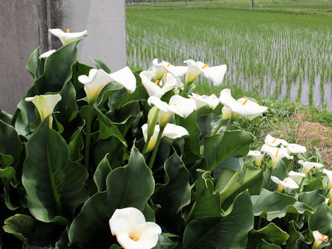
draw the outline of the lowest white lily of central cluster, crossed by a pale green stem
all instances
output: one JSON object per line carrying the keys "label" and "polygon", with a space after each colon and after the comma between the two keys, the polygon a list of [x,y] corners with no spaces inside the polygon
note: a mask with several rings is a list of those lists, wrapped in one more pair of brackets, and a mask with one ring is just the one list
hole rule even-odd
{"label": "lowest white lily of central cluster, crossed by a pale green stem", "polygon": [[[148,128],[147,124],[142,125],[142,132],[145,142],[147,141],[147,128]],[[149,145],[147,145],[147,152],[154,149],[159,131],[160,128],[159,125],[157,124],[156,127],[154,128],[154,134],[151,136],[149,140]],[[166,127],[163,130],[163,135],[161,137],[163,138],[163,136],[166,136],[167,138],[176,139],[187,135],[189,135],[189,133],[187,129],[185,129],[184,127],[181,127],[176,124],[166,124]]]}

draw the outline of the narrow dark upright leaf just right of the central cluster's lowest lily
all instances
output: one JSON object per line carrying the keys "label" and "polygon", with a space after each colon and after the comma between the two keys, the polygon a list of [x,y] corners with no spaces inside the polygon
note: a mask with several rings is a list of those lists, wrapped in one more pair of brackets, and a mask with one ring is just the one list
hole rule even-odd
{"label": "narrow dark upright leaf just right of the central cluster's lowest lily", "polygon": [[199,143],[201,131],[196,122],[196,112],[191,113],[187,118],[177,117],[176,124],[185,127],[189,133],[189,136],[185,136],[183,162],[185,165],[195,163],[196,160],[201,159],[199,151],[201,147]]}

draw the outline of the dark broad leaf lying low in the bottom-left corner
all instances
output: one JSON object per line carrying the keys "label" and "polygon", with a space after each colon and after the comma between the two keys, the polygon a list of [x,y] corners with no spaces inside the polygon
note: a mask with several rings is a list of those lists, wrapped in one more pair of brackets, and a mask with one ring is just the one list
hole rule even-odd
{"label": "dark broad leaf lying low in the bottom-left corner", "polygon": [[24,248],[50,248],[59,239],[64,226],[36,221],[25,214],[6,219],[3,230],[24,242]]}

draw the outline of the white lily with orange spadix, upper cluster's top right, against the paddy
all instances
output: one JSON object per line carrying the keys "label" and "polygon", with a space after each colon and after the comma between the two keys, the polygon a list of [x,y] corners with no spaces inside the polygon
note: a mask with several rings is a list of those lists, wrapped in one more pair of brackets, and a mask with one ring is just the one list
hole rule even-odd
{"label": "white lily with orange spadix, upper cluster's top right, against the paddy", "polygon": [[203,62],[195,62],[193,59],[187,59],[184,61],[188,65],[188,71],[185,74],[185,82],[191,84],[196,80],[196,77],[199,77],[201,73],[209,80],[212,81],[212,84],[219,86],[223,82],[223,77],[225,76],[227,66],[208,66]]}

